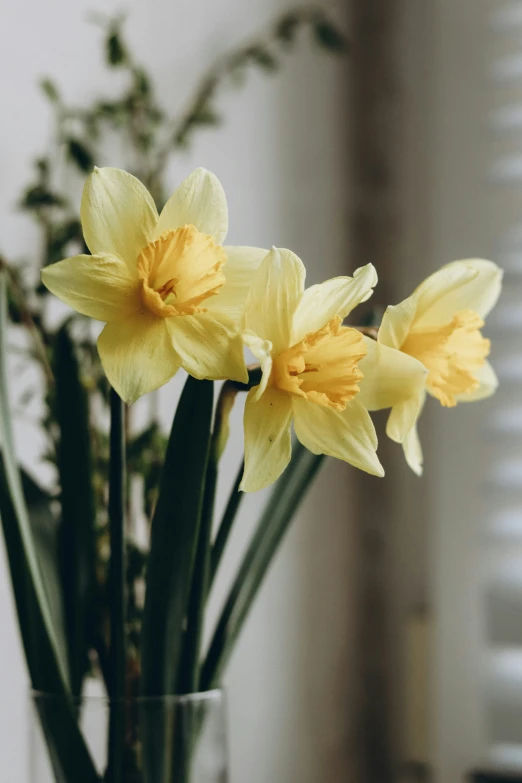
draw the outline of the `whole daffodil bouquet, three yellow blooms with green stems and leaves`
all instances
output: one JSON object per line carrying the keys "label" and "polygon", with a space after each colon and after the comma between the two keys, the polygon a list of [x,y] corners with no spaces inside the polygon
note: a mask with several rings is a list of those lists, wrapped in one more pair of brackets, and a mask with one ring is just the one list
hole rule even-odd
{"label": "whole daffodil bouquet, three yellow blooms with green stems and leaves", "polygon": [[[104,581],[109,614],[101,640],[96,637],[87,650],[90,673],[103,678],[111,703],[120,706],[131,697],[208,691],[220,685],[259,586],[324,456],[383,476],[370,412],[390,409],[387,435],[402,444],[408,464],[420,474],[417,419],[427,394],[453,407],[494,392],[490,344],[481,328],[498,299],[502,274],[490,261],[456,261],[388,307],[378,328],[347,326],[345,319],[372,295],[374,267],[306,288],[305,266],[290,250],[225,245],[225,195],[206,170],[182,182],[158,214],[136,178],[118,169],[95,169],[84,187],[81,221],[90,254],[46,267],[42,281],[77,314],[105,324],[97,348],[111,387]],[[33,519],[38,489],[20,469],[13,445],[6,371],[9,307],[6,280],[1,282],[0,512],[20,629],[33,688],[57,697],[52,709],[42,702],[39,714],[56,780],[96,783],[100,773],[82,736],[75,701],[88,657],[85,648],[79,657],[73,654],[79,615],[73,613],[64,633],[60,575],[53,573],[52,561],[42,559]],[[64,390],[62,383],[72,377],[67,368],[78,369],[77,320],[71,314],[61,326],[53,346],[59,361],[51,366],[63,413],[62,445],[72,439],[67,453],[76,455],[64,467],[88,486],[89,411],[81,384],[66,383]],[[357,316],[352,320],[356,324]],[[247,352],[253,357],[249,364]],[[188,379],[158,479],[145,598],[137,614],[128,578],[126,406],[167,383],[180,368]],[[223,382],[217,399],[215,381]],[[243,392],[244,462],[216,525],[219,462],[231,408]],[[75,439],[74,433],[80,435]],[[274,482],[211,641],[203,647],[208,596],[242,493]],[[40,510],[42,498],[38,495]],[[65,486],[60,501],[64,512],[71,502]],[[84,506],[79,514],[88,515]],[[85,571],[94,570],[92,538],[84,538],[83,548],[81,536],[72,540]],[[158,750],[166,740],[159,742],[144,725],[139,752],[128,747],[134,734],[121,711],[111,713],[104,779],[156,783],[153,756],[166,753],[164,747]],[[192,729],[194,745],[201,726]],[[176,742],[175,733],[162,736]],[[128,765],[142,777],[125,777]],[[168,780],[188,780],[186,760],[183,770]]]}

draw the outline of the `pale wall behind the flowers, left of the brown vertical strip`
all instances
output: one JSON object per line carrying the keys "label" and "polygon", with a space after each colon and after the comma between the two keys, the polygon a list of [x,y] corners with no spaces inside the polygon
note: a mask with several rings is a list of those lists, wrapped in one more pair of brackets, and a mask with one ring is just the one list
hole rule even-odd
{"label": "pale wall behind the flowers, left of the brown vertical strip", "polygon": [[[255,34],[289,4],[142,0],[127,5],[136,53],[150,64],[161,94],[175,109],[217,55]],[[99,31],[86,22],[87,12],[96,8],[107,12],[120,4],[3,1],[0,250],[8,256],[35,248],[34,232],[14,207],[30,175],[30,160],[49,133],[37,78],[49,74],[79,103],[104,89]],[[201,133],[171,172],[175,185],[197,165],[214,170],[229,198],[230,242],[292,247],[309,264],[312,282],[347,268],[344,68],[303,41],[280,76],[253,74],[246,90],[227,88],[221,98],[225,127]],[[175,394],[174,389],[162,395],[168,418]],[[240,411],[227,462],[229,480],[239,460],[239,419]],[[27,427],[19,434],[27,458],[35,434]],[[351,475],[342,465],[325,469],[238,645],[227,676],[233,783],[341,783],[350,777]],[[221,488],[221,502],[225,494]],[[260,504],[259,497],[245,502],[229,565]],[[21,783],[26,679],[5,565],[0,618],[2,781]]]}

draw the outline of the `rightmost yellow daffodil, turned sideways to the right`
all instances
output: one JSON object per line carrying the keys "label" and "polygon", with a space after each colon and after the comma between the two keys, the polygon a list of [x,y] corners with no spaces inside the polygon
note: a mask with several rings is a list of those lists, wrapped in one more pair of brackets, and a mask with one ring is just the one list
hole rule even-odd
{"label": "rightmost yellow daffodil, turned sideways to the right", "polygon": [[451,408],[489,397],[498,386],[486,359],[490,343],[480,330],[501,285],[502,271],[491,261],[454,261],[386,310],[379,345],[415,357],[428,371],[420,392],[392,407],[386,430],[402,443],[408,465],[418,475],[423,458],[416,422],[426,392]]}

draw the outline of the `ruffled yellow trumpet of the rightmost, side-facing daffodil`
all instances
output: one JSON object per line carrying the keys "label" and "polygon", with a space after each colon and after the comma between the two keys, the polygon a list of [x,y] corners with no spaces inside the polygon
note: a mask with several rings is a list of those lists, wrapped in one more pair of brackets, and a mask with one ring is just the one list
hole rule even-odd
{"label": "ruffled yellow trumpet of the rightmost, side-facing daffodil", "polygon": [[447,408],[457,404],[456,395],[479,386],[474,373],[490,348],[490,341],[480,333],[483,326],[473,310],[461,310],[449,324],[412,332],[401,347],[426,367],[428,389]]}

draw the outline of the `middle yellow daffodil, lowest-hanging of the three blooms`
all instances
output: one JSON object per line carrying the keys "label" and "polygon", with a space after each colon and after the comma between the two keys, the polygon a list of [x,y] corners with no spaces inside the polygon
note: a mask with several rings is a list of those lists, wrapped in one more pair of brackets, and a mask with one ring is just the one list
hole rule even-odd
{"label": "middle yellow daffodil, lowest-hanging of the three blooms", "polygon": [[[360,331],[343,319],[372,294],[377,282],[370,264],[352,277],[337,277],[304,290],[305,268],[289,250],[272,251],[254,275],[245,308],[243,339],[260,362],[262,378],[245,406],[245,473],[241,489],[254,492],[275,481],[290,460],[291,425],[314,454],[328,454],[382,476],[377,436],[359,384],[368,394],[381,365]],[[398,351],[392,367],[397,386],[424,368]],[[370,356],[371,355],[371,356]],[[404,369],[406,368],[406,370]],[[406,380],[404,378],[406,376]],[[392,395],[393,396],[393,395]],[[389,399],[389,395],[387,397]]]}

